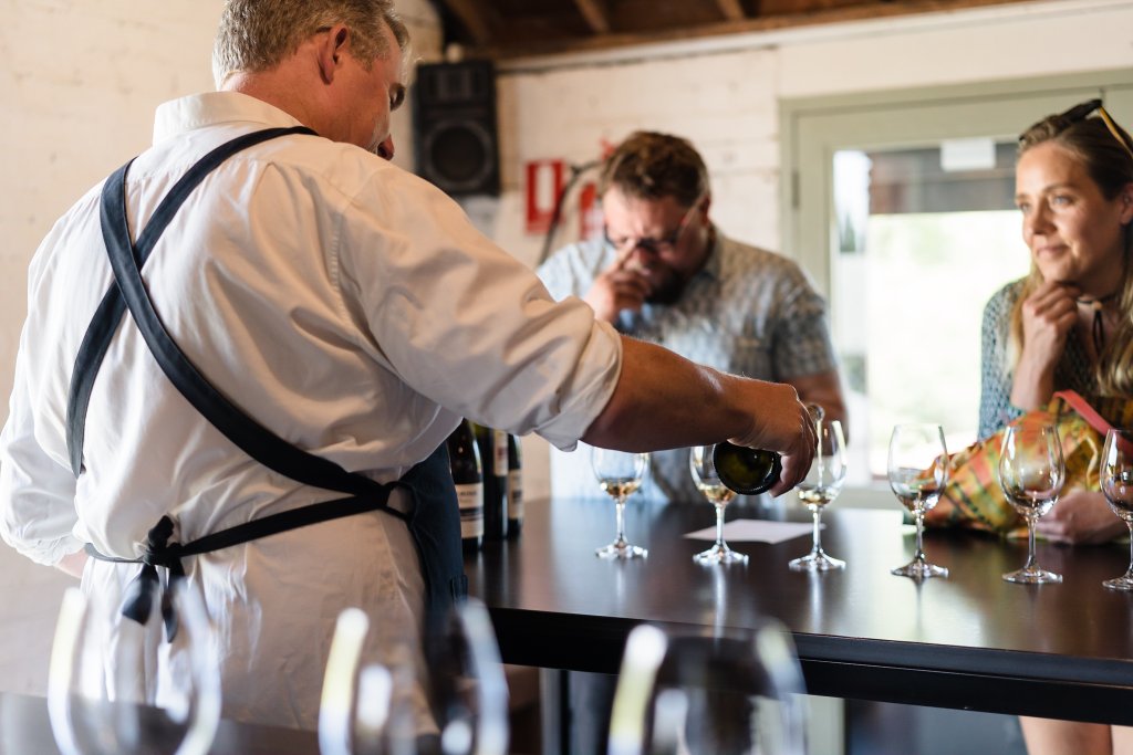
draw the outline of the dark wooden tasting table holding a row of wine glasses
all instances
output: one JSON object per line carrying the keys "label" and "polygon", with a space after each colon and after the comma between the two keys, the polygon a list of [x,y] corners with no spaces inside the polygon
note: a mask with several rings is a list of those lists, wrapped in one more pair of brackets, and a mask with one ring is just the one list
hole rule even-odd
{"label": "dark wooden tasting table holding a row of wine glasses", "polygon": [[600,499],[530,501],[522,535],[487,543],[467,570],[510,663],[614,674],[639,623],[702,630],[772,616],[793,634],[811,694],[1133,724],[1133,594],[1101,586],[1125,570],[1126,544],[1040,542],[1040,564],[1063,584],[1016,585],[1000,575],[1023,564],[1025,541],[929,532],[930,560],[952,575],[917,583],[889,574],[913,548],[892,505],[824,515],[843,572],[787,568],[809,535],[734,543],[747,566],[699,566],[707,543],[682,534],[712,525],[704,503],[631,503],[627,533],[649,557],[602,560],[594,549],[612,539],[614,512]]}

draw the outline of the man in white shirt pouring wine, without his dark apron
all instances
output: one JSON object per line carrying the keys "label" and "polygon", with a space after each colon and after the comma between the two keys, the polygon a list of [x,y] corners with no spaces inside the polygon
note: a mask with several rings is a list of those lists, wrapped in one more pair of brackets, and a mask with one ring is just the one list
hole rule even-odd
{"label": "man in white shirt pouring wine, without his dark apron", "polygon": [[[153,246],[146,289],[188,360],[261,426],[381,483],[434,458],[468,417],[562,448],[734,438],[782,452],[778,490],[792,487],[812,446],[793,388],[699,367],[622,338],[578,300],[554,302],[458,205],[387,162],[407,44],[390,0],[227,3],[220,91],[162,105],[153,146],[126,174],[130,237],[143,246],[159,203],[210,151],[306,129],[221,162]],[[162,374],[129,315],[108,341],[71,456],[76,354],[113,286],[102,192],[60,218],[31,265],[0,436],[0,534],[117,600],[138,566],[88,560],[84,543],[138,558],[164,520],[187,543],[341,495],[241,451]],[[395,490],[392,514],[407,499]],[[451,527],[435,534],[459,540]],[[419,644],[423,554],[403,521],[375,511],[180,559],[216,624],[224,714],[314,728],[348,606],[374,617],[378,660]]]}

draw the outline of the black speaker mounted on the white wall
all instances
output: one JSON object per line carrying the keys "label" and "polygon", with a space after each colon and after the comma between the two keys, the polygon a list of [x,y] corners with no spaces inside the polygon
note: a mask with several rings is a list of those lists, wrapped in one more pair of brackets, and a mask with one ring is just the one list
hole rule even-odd
{"label": "black speaker mounted on the white wall", "polygon": [[414,89],[417,173],[451,195],[500,194],[494,66],[423,63]]}

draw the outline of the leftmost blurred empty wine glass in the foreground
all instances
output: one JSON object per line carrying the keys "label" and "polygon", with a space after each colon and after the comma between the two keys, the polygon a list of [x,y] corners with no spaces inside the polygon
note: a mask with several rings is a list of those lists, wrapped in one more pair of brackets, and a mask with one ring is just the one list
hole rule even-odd
{"label": "leftmost blurred empty wine glass in the foreground", "polygon": [[[65,593],[48,670],[48,714],[63,755],[208,752],[221,704],[212,627],[186,581],[165,590],[177,620],[168,641],[156,606],[142,624],[104,595]],[[153,678],[159,653],[168,662]]]}

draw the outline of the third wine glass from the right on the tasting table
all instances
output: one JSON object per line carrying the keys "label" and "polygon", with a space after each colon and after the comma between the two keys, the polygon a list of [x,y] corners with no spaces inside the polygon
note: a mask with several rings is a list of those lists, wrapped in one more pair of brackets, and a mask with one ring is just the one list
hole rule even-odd
{"label": "third wine glass from the right on the tasting table", "polygon": [[948,448],[939,424],[897,424],[889,436],[889,488],[917,520],[913,559],[892,569],[914,580],[947,577],[948,569],[925,558],[925,512],[936,506],[948,481]]}

